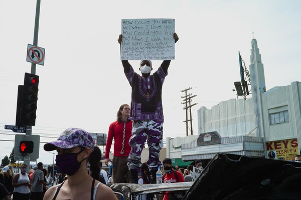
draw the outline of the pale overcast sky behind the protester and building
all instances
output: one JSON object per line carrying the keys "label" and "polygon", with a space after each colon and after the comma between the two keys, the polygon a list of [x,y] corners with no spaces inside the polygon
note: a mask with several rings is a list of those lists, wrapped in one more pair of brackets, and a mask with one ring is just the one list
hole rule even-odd
{"label": "pale overcast sky behind the protester and building", "polygon": [[[15,133],[4,125],[15,124],[18,85],[31,71],[26,51],[33,44],[35,10],[36,0],[0,0],[0,159],[14,147]],[[236,98],[238,51],[248,67],[253,36],[267,89],[301,80],[299,0],[41,0],[38,46],[46,50],[45,65],[36,69],[33,127],[41,142],[55,140],[68,127],[107,133],[118,107],[130,103],[117,43],[122,18],[175,18],[180,39],[163,85],[164,138],[186,136],[181,90],[192,87],[197,95],[196,135],[199,107]],[[153,67],[161,62],[153,61]],[[130,63],[138,71],[139,61]],[[43,145],[38,161],[52,163]]]}

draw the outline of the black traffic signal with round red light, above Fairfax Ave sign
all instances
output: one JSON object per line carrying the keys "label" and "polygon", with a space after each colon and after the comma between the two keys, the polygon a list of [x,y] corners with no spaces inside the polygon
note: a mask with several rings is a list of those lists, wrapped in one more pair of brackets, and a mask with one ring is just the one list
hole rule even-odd
{"label": "black traffic signal with round red light, above Fairfax Ave sign", "polygon": [[[20,85],[19,85],[20,86]],[[17,119],[16,125],[35,125],[36,124],[36,111],[39,91],[39,76],[31,73],[25,73],[24,85],[19,88],[23,90],[18,91],[18,102],[17,102]],[[20,94],[19,98],[19,92]],[[21,106],[20,104],[21,100]],[[18,107],[19,106],[19,107]],[[20,109],[18,115],[18,109]]]}

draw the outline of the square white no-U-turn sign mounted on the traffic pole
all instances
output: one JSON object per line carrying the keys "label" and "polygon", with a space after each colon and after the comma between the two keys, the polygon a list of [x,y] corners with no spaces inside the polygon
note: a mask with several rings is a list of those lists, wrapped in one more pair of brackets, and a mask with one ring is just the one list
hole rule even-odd
{"label": "square white no-U-turn sign mounted on the traffic pole", "polygon": [[27,59],[26,61],[44,65],[45,48],[27,45]]}

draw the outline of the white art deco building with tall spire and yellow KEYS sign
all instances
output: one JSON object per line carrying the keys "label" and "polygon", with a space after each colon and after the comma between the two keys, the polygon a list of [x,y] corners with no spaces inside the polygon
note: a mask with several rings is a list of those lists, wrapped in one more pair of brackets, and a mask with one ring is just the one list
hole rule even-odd
{"label": "white art deco building with tall spire and yellow KEYS sign", "polygon": [[266,90],[256,39],[251,45],[252,98],[225,100],[211,109],[200,107],[199,135],[168,137],[167,157],[206,160],[225,152],[292,160],[300,153],[301,83]]}

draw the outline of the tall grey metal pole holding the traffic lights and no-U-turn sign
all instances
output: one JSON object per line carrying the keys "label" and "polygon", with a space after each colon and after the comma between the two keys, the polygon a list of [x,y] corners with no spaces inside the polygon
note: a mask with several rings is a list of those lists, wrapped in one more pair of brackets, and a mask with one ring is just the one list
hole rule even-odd
{"label": "tall grey metal pole holding the traffic lights and no-U-turn sign", "polygon": [[[33,45],[35,45],[35,46],[38,46],[40,6],[41,6],[41,0],[37,0],[35,30],[34,30],[34,43],[33,43]],[[36,63],[32,63],[31,73],[36,74]],[[31,140],[31,135],[32,135],[32,126],[28,125],[26,128],[27,128],[26,129],[26,140],[30,141]],[[29,167],[30,166],[30,155],[29,154],[27,154],[27,156],[24,156],[24,164],[26,164],[28,166],[27,167],[27,173],[29,173],[29,168],[30,168]]]}

